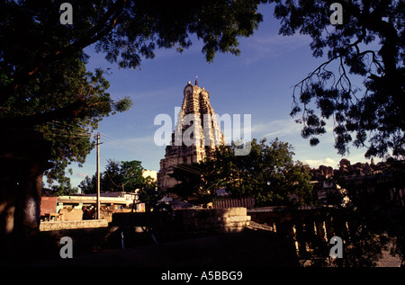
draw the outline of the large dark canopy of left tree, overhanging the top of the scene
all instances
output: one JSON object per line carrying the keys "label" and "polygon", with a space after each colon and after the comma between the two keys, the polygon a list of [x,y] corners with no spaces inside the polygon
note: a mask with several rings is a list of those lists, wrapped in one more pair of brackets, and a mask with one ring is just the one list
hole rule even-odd
{"label": "large dark canopy of left tree, overhanging the top of the scene", "polygon": [[64,1],[2,1],[0,11],[0,129],[35,129],[52,143],[49,182],[69,187],[65,169],[94,147],[90,133],[105,116],[126,111],[130,98],[113,101],[103,70],[85,69],[84,49],[94,45],[119,67],[139,67],[154,50],[192,45],[202,53],[238,55],[238,37],[262,21],[262,1],[79,1],[72,24],[60,22]]}

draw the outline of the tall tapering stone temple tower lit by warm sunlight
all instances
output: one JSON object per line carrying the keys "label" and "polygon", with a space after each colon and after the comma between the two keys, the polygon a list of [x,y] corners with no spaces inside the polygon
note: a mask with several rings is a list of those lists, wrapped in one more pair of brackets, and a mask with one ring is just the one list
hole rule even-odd
{"label": "tall tapering stone temple tower lit by warm sunlight", "polygon": [[211,156],[215,147],[224,144],[208,91],[200,88],[195,80],[194,85],[190,81],[185,85],[183,94],[171,145],[166,146],[166,155],[160,160],[157,173],[157,183],[162,191],[177,183],[168,175],[173,173],[175,165],[200,162]]}

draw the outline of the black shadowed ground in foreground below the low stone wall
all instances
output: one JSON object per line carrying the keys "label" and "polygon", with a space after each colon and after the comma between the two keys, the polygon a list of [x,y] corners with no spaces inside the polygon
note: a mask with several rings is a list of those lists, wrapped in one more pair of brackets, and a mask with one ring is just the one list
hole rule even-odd
{"label": "black shadowed ground in foreground below the low stone wall", "polygon": [[257,267],[299,266],[293,241],[263,230],[186,238],[73,258],[42,260],[31,266]]}

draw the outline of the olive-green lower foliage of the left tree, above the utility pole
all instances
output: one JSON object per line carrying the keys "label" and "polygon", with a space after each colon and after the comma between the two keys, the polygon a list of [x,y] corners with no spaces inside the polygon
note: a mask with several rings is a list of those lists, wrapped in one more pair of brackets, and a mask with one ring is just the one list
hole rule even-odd
{"label": "olive-green lower foliage of the left tree, above the utility pole", "polygon": [[[66,70],[66,72],[74,73],[74,70]],[[77,162],[79,165],[85,163],[85,157],[95,146],[91,132],[98,128],[103,117],[113,115],[117,111],[126,111],[131,105],[128,98],[112,102],[110,94],[105,92],[109,84],[103,78],[102,70],[96,70],[95,75],[87,72],[76,73],[75,76],[77,82],[82,81],[81,84],[77,84],[77,89],[70,85],[72,87],[67,89],[65,94],[52,94],[52,96],[58,95],[59,100],[55,99],[55,102],[49,101],[45,96],[43,98],[37,96],[35,100],[41,103],[38,108],[31,110],[34,113],[39,111],[38,109],[55,108],[56,102],[61,103],[66,100],[69,104],[69,100],[84,98],[85,107],[81,109],[85,112],[83,117],[49,120],[32,127],[42,132],[44,138],[49,139],[52,144],[51,160],[55,166],[45,173],[49,183],[53,183],[53,180],[59,184],[67,182],[68,178],[65,177],[67,166],[72,162]],[[85,80],[82,80],[83,78]],[[61,109],[63,108],[61,107]],[[14,110],[18,109],[14,108]],[[25,111],[25,114],[28,114],[28,110]]]}

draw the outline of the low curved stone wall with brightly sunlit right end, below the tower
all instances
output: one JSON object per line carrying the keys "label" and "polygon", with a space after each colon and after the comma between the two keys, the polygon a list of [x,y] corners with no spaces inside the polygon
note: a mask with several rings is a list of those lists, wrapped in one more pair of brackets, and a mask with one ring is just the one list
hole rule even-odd
{"label": "low curved stone wall with brightly sunlit right end, below the tower", "polygon": [[175,220],[185,232],[237,233],[250,224],[247,209],[176,209]]}

